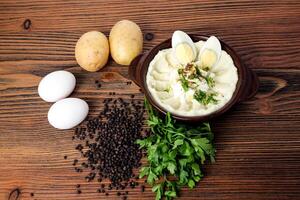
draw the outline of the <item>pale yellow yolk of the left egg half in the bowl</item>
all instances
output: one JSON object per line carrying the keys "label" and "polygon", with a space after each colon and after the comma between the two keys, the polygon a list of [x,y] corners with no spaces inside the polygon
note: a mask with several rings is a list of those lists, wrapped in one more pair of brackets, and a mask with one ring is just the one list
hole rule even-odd
{"label": "pale yellow yolk of the left egg half in the bowl", "polygon": [[178,61],[182,64],[190,63],[194,60],[194,52],[190,45],[182,43],[176,46],[175,54]]}

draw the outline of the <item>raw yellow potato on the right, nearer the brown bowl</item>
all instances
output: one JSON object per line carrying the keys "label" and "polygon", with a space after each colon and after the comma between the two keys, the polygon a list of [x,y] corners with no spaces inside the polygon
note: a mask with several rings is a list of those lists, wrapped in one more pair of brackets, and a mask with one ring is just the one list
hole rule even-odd
{"label": "raw yellow potato on the right, nearer the brown bowl", "polygon": [[140,27],[129,20],[117,22],[110,31],[111,56],[116,63],[129,65],[142,52],[143,34]]}

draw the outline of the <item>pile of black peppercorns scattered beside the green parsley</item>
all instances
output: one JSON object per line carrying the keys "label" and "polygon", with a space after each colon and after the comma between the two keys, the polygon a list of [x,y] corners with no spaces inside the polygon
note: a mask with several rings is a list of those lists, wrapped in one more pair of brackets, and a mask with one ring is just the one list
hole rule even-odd
{"label": "pile of black peppercorns scattered beside the green parsley", "polygon": [[[98,117],[75,129],[73,139],[79,140],[76,150],[85,161],[75,159],[73,165],[76,172],[88,171],[88,182],[110,180],[108,185],[100,184],[97,192],[109,195],[109,190],[122,190],[117,195],[127,199],[128,191],[124,190],[138,185],[133,169],[141,166],[142,151],[135,141],[142,138],[144,106],[142,101],[121,98],[105,99],[103,103]],[[76,188],[80,194],[80,185]]]}

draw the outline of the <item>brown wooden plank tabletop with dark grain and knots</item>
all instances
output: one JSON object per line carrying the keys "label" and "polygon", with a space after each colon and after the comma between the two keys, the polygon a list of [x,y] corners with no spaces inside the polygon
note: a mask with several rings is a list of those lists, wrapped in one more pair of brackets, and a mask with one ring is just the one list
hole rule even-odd
{"label": "brown wooden plank tabletop with dark grain and knots", "polygon": [[[86,31],[108,35],[114,23],[130,19],[154,39],[144,51],[176,29],[217,35],[231,45],[258,75],[261,86],[251,100],[213,121],[217,162],[207,165],[196,189],[180,199],[300,199],[300,1],[58,1],[0,2],[0,199],[108,199],[96,193],[71,165],[76,157],[74,130],[59,131],[47,122],[50,103],[37,85],[44,75],[65,69],[75,74],[73,97],[90,105],[102,100],[143,99],[127,85],[127,67],[110,61],[88,73],[74,58],[77,39]],[[95,80],[101,80],[97,89]],[[68,159],[64,159],[64,155]],[[81,183],[83,193],[76,194]],[[18,194],[19,193],[19,194]],[[31,193],[34,196],[31,196]],[[129,199],[153,199],[130,191]],[[110,195],[111,199],[118,199]]]}

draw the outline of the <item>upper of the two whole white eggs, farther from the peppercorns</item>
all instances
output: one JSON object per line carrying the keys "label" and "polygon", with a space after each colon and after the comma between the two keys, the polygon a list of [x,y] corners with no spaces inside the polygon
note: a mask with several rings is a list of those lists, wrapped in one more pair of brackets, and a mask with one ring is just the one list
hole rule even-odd
{"label": "upper of the two whole white eggs, farther from the peppercorns", "polygon": [[56,102],[68,97],[74,90],[75,76],[68,71],[55,71],[47,74],[39,83],[39,96],[47,102]]}

